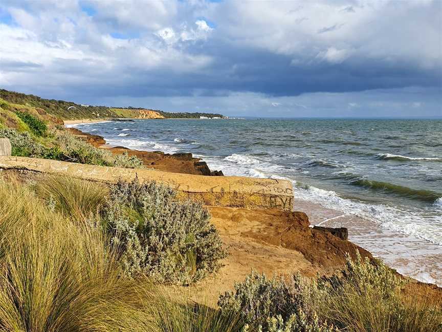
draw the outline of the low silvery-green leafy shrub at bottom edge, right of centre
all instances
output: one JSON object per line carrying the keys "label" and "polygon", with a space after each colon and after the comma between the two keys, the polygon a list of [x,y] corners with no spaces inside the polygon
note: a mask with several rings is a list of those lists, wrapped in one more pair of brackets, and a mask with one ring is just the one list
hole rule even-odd
{"label": "low silvery-green leafy shrub at bottom edge, right of centre", "polygon": [[252,271],[244,282],[235,283],[234,292],[219,297],[218,306],[222,312],[238,313],[248,324],[245,331],[328,332],[333,327],[316,313],[321,293],[316,283],[299,275],[286,281]]}

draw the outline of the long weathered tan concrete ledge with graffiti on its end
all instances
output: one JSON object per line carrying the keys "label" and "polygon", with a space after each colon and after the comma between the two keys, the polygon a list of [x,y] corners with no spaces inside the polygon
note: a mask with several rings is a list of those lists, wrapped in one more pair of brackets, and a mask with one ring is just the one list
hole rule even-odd
{"label": "long weathered tan concrete ledge with graffiti on its end", "polygon": [[0,157],[0,169],[60,174],[101,182],[118,179],[166,183],[206,205],[292,210],[293,186],[288,180],[237,176],[202,176],[145,169],[122,169],[27,157]]}

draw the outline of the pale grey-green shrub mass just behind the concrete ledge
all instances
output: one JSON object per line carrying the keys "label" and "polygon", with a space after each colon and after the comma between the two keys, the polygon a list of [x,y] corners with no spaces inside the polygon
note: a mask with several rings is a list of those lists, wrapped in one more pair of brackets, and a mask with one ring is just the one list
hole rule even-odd
{"label": "pale grey-green shrub mass just behind the concrete ledge", "polygon": [[96,148],[69,132],[56,131],[54,136],[67,161],[122,168],[140,168],[143,165],[143,161],[136,156],[113,155],[112,152]]}

